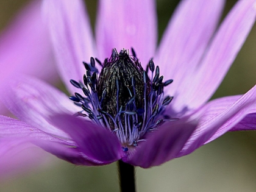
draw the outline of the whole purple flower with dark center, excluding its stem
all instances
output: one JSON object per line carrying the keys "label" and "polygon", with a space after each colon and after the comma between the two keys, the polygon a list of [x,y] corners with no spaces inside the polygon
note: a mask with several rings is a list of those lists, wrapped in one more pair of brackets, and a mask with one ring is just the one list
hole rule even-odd
{"label": "whole purple flower with dark center, excluding its stem", "polygon": [[[256,15],[255,1],[238,1],[216,30],[223,5],[221,0],[182,1],[156,48],[154,1],[99,1],[95,41],[82,1],[44,1],[44,16],[49,23],[60,75],[69,92],[76,93],[71,100],[79,106],[40,80],[30,77],[13,80],[3,100],[21,121],[0,116],[0,136],[10,142],[18,138],[30,141],[76,165],[105,165],[122,159],[149,168],[190,154],[227,131],[254,130],[256,87],[242,96],[207,102],[243,45]],[[131,47],[137,56],[124,54]],[[113,48],[124,51],[114,52],[110,57]],[[123,116],[111,110],[113,113],[109,115],[103,110],[102,106],[108,110],[113,104],[104,101],[104,90],[98,84],[103,76],[96,77],[96,67],[101,66],[94,59],[90,65],[85,63],[87,72],[83,79],[82,62],[90,57],[99,60],[110,57],[103,64],[106,71],[105,66],[118,62],[135,66],[137,72],[129,68],[127,73],[134,74],[134,79],[138,73],[138,79],[142,80],[138,83],[135,79],[134,83],[129,79],[127,87],[135,87],[135,91],[128,93],[132,99],[140,97],[140,88],[136,86],[143,84],[144,98],[140,101],[144,104],[139,111],[135,111],[140,105],[134,104],[137,100],[127,101],[127,96],[118,99],[126,103],[121,104],[122,109],[115,105],[117,113],[125,112]],[[153,70],[152,62],[149,70],[154,74],[149,71],[148,80],[148,75],[140,73],[137,57],[144,69],[154,57],[165,80],[155,74],[158,69]],[[124,62],[124,58],[129,62]],[[125,85],[126,75],[120,78],[113,75],[116,79],[112,82],[112,74],[107,76],[102,84],[113,84],[112,91],[119,96],[118,91],[122,91],[119,85]],[[157,76],[155,82],[154,76]],[[168,79],[174,82],[162,90]],[[174,98],[166,98],[168,95]],[[115,101],[113,97],[110,99]],[[130,116],[133,120],[127,121]],[[141,125],[138,119],[146,123]]]}

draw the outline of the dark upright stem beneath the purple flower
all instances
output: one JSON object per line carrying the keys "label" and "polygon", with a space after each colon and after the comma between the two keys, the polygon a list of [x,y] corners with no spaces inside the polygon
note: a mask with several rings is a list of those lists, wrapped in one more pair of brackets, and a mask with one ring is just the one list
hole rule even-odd
{"label": "dark upright stem beneath the purple flower", "polygon": [[134,166],[119,160],[118,167],[121,192],[135,192]]}

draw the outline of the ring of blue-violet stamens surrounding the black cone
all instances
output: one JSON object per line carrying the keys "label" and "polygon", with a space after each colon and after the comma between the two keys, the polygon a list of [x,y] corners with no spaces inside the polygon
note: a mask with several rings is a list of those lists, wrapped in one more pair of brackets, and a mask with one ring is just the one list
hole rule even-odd
{"label": "ring of blue-violet stamens surrounding the black cone", "polygon": [[[123,57],[127,57],[135,66],[138,65],[138,71],[142,73],[141,82],[138,82],[138,79],[135,80],[134,75],[132,75],[130,79],[128,78],[129,86],[125,86],[129,94],[127,96],[128,99],[120,104],[119,100],[123,98],[119,98],[119,91],[123,87],[120,87],[122,82],[116,77],[116,98],[112,98],[116,101],[114,102],[116,105],[114,106],[115,112],[107,111],[104,110],[103,103],[105,102],[104,99],[106,98],[107,91],[111,89],[99,86],[99,84],[102,84],[102,73],[100,76],[98,75],[99,73],[98,69],[95,67],[95,62],[98,62],[99,65],[103,67],[102,70],[104,70],[105,66],[114,65]],[[137,146],[140,141],[143,141],[143,136],[146,132],[157,130],[165,121],[175,119],[165,115],[165,108],[170,104],[173,97],[164,97],[163,91],[164,87],[171,84],[172,80],[170,79],[163,82],[163,76],[160,76],[160,69],[158,66],[155,68],[152,59],[149,61],[146,71],[143,71],[133,49],[132,55],[129,55],[127,50],[122,50],[118,54],[116,49],[114,49],[110,59],[105,59],[103,64],[93,57],[91,57],[90,64],[83,63],[86,69],[84,82],[70,80],[74,87],[81,89],[84,93],[84,96],[79,93],[74,93],[74,96],[69,97],[69,99],[74,101],[74,104],[82,108],[76,115],[90,118],[94,123],[106,127],[106,129],[115,133],[119,141],[123,143],[124,151],[128,150],[127,147]],[[142,70],[140,70],[140,68]],[[148,76],[148,73],[150,73],[149,70],[151,71],[151,79],[149,79]],[[142,98],[141,101],[137,101],[138,84],[143,85],[143,93],[142,97],[140,97]]]}

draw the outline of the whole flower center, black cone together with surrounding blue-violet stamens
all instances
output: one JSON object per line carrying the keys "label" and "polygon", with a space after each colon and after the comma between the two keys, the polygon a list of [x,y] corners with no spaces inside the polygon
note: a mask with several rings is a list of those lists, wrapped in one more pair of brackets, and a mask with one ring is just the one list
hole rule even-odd
{"label": "whole flower center, black cone together with surrounding blue-violet stamens", "polygon": [[[99,77],[95,60],[102,66]],[[82,107],[77,115],[88,117],[115,133],[125,146],[124,151],[128,150],[127,146],[137,146],[143,141],[146,132],[170,121],[165,108],[173,97],[164,97],[163,90],[172,80],[163,82],[159,67],[155,69],[152,60],[144,71],[133,49],[132,55],[128,50],[121,50],[118,54],[114,49],[103,64],[91,57],[90,64],[84,62],[84,65],[87,70],[84,83],[70,82],[82,89],[85,96],[75,93],[69,99]]]}

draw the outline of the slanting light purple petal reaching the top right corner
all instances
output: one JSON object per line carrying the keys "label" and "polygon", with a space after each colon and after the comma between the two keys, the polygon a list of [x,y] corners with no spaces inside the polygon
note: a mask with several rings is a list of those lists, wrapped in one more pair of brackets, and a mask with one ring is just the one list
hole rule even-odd
{"label": "slanting light purple petal reaching the top right corner", "polygon": [[210,99],[243,46],[254,25],[255,15],[254,0],[236,3],[219,27],[202,62],[191,71],[192,76],[180,84],[182,97],[176,99],[176,105],[196,108]]}

